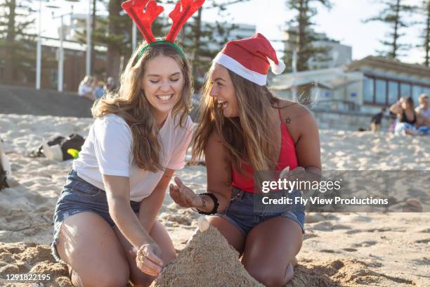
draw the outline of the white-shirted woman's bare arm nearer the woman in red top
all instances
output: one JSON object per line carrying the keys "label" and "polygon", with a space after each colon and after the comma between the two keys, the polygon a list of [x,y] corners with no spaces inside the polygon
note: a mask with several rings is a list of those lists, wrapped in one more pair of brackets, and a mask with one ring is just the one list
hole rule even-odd
{"label": "white-shirted woman's bare arm nearer the woman in red top", "polygon": [[174,172],[174,170],[167,168],[151,195],[142,200],[139,210],[139,220],[148,233],[151,231],[155,218],[162,207],[167,186]]}

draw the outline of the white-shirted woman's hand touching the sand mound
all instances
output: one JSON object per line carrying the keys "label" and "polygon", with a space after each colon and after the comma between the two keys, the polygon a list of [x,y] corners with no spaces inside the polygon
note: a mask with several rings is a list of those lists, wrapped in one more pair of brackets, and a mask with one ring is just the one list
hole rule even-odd
{"label": "white-shirted woman's hand touching the sand mound", "polygon": [[156,243],[143,244],[136,254],[136,265],[145,274],[158,276],[163,269],[164,263],[160,259],[161,249]]}

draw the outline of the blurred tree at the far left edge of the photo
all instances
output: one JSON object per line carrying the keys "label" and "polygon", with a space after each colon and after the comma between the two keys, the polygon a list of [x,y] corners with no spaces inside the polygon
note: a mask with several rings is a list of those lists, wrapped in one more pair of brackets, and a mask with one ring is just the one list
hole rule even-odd
{"label": "blurred tree at the far left edge of the photo", "polygon": [[30,4],[29,0],[0,2],[0,48],[7,55],[0,65],[4,65],[3,81],[7,84],[14,84],[18,75],[29,82],[34,79],[36,45],[35,35],[28,32],[34,23]]}

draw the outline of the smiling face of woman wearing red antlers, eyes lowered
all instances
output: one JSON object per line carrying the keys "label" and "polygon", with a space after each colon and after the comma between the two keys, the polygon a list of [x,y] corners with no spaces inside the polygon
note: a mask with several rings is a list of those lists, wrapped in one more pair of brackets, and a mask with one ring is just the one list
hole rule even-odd
{"label": "smiling face of woman wearing red antlers, eyes lowered", "polygon": [[141,89],[152,106],[157,121],[164,121],[181,98],[183,73],[169,56],[155,56],[145,64]]}

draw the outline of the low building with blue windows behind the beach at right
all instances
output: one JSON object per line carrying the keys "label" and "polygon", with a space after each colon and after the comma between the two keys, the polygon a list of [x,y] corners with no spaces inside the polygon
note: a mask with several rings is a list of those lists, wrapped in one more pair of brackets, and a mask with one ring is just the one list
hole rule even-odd
{"label": "low building with blue windows behind the beach at right", "polygon": [[400,97],[412,96],[417,106],[419,94],[430,95],[430,68],[368,56],[338,68],[273,77],[271,89],[311,107],[322,128],[366,129],[372,114]]}

